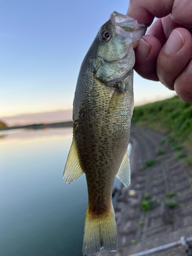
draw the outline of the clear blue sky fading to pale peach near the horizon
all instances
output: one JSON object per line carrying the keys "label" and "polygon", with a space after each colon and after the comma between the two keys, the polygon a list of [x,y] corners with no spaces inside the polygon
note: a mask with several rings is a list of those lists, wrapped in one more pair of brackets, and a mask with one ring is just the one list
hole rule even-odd
{"label": "clear blue sky fading to pale peach near the horizon", "polygon": [[[99,28],[113,11],[125,14],[128,4],[0,0],[0,120],[9,125],[32,123],[41,113],[42,122],[52,122],[58,111],[60,116],[53,121],[66,119],[65,111],[73,108],[81,62]],[[174,94],[135,73],[135,105]],[[19,119],[24,114],[28,117]]]}

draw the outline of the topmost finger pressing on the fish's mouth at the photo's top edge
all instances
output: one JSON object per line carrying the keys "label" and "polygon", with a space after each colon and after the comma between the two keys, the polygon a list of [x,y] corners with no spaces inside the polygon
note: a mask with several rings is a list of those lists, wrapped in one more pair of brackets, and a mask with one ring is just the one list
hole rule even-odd
{"label": "topmost finger pressing on the fish's mouth at the photo's top edge", "polygon": [[162,18],[172,12],[174,0],[130,0],[126,15],[149,27],[154,17]]}

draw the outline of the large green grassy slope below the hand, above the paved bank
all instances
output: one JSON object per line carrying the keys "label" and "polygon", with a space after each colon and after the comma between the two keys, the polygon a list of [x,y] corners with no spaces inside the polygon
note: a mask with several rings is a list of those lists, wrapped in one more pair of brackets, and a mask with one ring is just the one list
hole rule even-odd
{"label": "large green grassy slope below the hand, above the paved bank", "polygon": [[190,150],[185,163],[192,165],[192,103],[178,96],[170,99],[136,106],[132,120],[137,125],[152,128],[170,137],[159,144],[168,143],[173,150],[181,150],[182,143]]}

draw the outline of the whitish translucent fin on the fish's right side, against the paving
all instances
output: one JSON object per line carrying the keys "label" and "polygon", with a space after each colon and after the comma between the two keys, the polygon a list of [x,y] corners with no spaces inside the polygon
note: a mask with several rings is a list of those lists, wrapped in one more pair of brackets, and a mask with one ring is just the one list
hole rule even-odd
{"label": "whitish translucent fin on the fish's right side, against the paving", "polygon": [[123,157],[122,163],[119,168],[119,172],[116,176],[125,185],[125,187],[130,185],[131,172],[130,172],[130,159],[128,156],[128,150],[126,151]]}

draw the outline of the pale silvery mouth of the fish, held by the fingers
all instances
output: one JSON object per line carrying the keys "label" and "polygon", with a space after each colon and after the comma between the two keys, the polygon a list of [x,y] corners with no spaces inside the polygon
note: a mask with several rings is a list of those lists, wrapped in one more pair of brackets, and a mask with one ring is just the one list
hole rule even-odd
{"label": "pale silvery mouth of the fish, held by the fingers", "polygon": [[136,19],[116,11],[110,15],[110,20],[115,26],[116,35],[130,38],[133,48],[137,46],[137,44],[134,44],[133,42],[138,41],[139,38],[145,34],[147,29],[146,25],[138,24]]}

